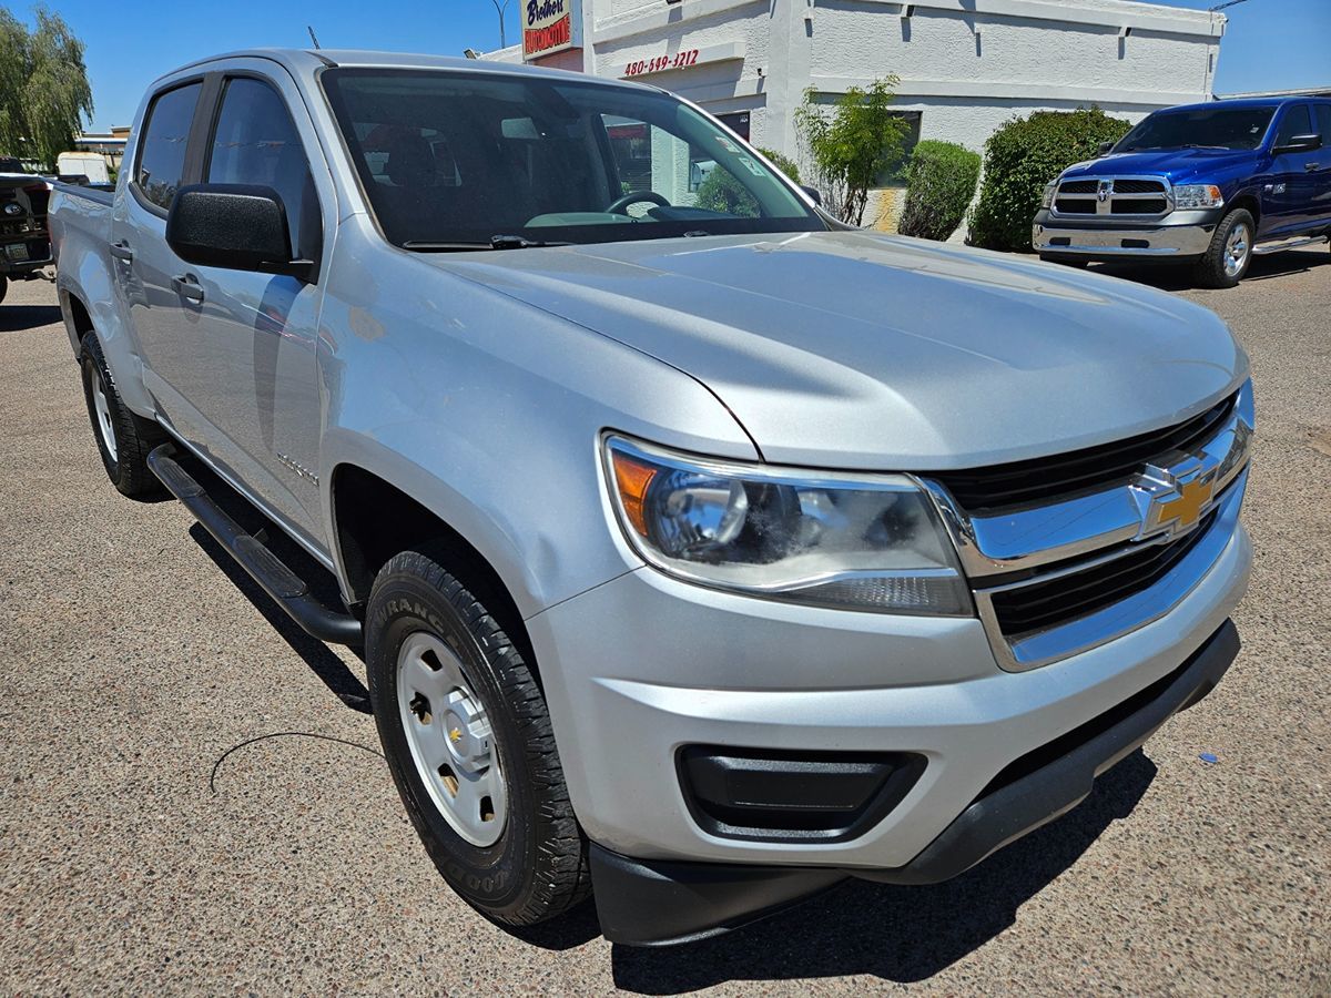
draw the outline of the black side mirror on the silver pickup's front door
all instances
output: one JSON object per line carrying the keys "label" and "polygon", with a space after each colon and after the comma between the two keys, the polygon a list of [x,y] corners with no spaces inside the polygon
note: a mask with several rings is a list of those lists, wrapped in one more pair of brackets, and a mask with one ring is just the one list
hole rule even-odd
{"label": "black side mirror on the silver pickup's front door", "polygon": [[291,259],[286,210],[273,188],[192,184],[176,193],[166,245],[186,263],[310,279],[314,263]]}

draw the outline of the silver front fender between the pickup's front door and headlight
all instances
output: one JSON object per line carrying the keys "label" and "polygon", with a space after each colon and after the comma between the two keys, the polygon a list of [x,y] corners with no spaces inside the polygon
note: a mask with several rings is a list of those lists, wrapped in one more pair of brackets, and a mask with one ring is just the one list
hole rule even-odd
{"label": "silver front fender between the pickup's front door and headlight", "polygon": [[341,226],[327,289],[319,482],[345,596],[339,466],[382,478],[461,534],[528,617],[640,564],[607,519],[606,428],[759,456],[692,377],[395,250],[357,220]]}

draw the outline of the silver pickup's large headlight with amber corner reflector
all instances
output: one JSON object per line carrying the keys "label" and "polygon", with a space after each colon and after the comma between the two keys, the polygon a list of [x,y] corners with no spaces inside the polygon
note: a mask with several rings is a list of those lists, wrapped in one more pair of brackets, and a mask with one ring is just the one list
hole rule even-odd
{"label": "silver pickup's large headlight with amber corner reflector", "polygon": [[972,613],[952,542],[902,475],[797,472],[607,438],[630,543],[700,585],[882,613]]}

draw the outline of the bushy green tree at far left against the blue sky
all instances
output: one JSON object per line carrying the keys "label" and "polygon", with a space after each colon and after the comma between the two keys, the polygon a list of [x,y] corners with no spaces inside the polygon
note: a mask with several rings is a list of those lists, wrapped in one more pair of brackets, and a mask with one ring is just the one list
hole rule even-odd
{"label": "bushy green tree at far left against the blue sky", "polygon": [[55,170],[92,117],[84,45],[64,19],[37,5],[28,31],[0,7],[0,152]]}

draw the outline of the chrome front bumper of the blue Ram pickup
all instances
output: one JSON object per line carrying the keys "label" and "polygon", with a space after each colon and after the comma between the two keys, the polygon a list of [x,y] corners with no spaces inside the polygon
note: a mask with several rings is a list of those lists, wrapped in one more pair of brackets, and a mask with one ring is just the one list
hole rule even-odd
{"label": "chrome front bumper of the blue Ram pickup", "polygon": [[1055,217],[1041,209],[1030,229],[1030,242],[1044,257],[1114,259],[1195,259],[1211,245],[1221,209],[1173,212],[1150,224],[1113,217]]}

